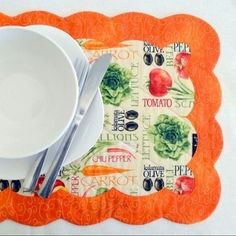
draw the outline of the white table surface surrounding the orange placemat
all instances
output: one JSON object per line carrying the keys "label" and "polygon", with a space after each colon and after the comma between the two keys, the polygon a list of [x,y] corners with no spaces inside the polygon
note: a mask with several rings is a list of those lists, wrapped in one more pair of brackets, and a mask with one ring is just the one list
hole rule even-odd
{"label": "white table surface surrounding the orange placemat", "polygon": [[0,12],[8,15],[29,10],[47,10],[61,16],[88,10],[108,16],[136,11],[159,18],[187,13],[210,23],[221,41],[221,56],[215,73],[223,93],[217,119],[224,134],[224,148],[216,163],[222,193],[213,214],[194,225],[157,220],[144,226],[131,226],[109,219],[86,227],[58,220],[47,226],[33,228],[5,221],[0,223],[0,234],[236,234],[236,0],[0,0]]}

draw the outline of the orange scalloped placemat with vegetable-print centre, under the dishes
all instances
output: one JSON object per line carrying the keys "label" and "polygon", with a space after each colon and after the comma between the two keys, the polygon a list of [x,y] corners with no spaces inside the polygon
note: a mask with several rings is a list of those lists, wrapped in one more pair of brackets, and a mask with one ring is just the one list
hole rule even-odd
{"label": "orange scalloped placemat with vegetable-print centre, under the dishes", "polygon": [[[219,56],[219,39],[212,27],[189,15],[157,19],[141,13],[125,13],[112,18],[94,12],[81,12],[65,18],[48,12],[27,12],[16,17],[0,14],[1,26],[31,24],[51,25],[68,32],[78,40],[91,60],[103,52],[113,53],[110,73],[117,76],[114,75],[116,71],[125,75],[127,81],[120,81],[122,93],[114,81],[109,82],[111,77],[103,81],[101,91],[105,118],[108,119],[105,119],[103,132],[106,138],[101,137],[97,144],[110,141],[108,134],[116,137],[118,143],[109,143],[105,151],[91,152],[77,165],[62,170],[60,178],[65,180],[68,173],[77,171],[73,178],[69,175],[69,179],[75,181],[78,176],[81,181],[79,189],[85,191],[83,196],[80,190],[72,188],[72,182],[67,187],[70,193],[61,189],[46,200],[6,188],[0,193],[0,220],[12,219],[36,226],[59,218],[79,225],[95,224],[110,217],[128,224],[145,224],[161,217],[190,224],[207,218],[219,201],[220,180],[214,163],[223,143],[215,120],[221,92],[213,73]],[[142,66],[138,68],[143,82],[139,81],[139,91],[142,92],[136,94],[136,101],[142,106],[134,109],[135,99],[133,105],[128,101],[137,89],[135,73],[127,68],[135,68],[140,63]],[[112,91],[108,82],[112,83]],[[186,101],[190,101],[188,108]],[[177,106],[182,108],[175,109]],[[150,141],[148,155],[144,152],[145,139],[141,138],[139,142],[140,139],[135,138],[139,137],[139,133],[135,133],[138,126],[144,124],[140,114],[143,118],[144,114],[156,114],[149,116],[150,124],[145,136]],[[110,125],[111,120],[113,123]],[[113,129],[108,132],[111,126]],[[132,140],[129,138],[128,144],[127,140],[124,142],[115,136],[119,135],[116,132],[120,129],[125,129],[128,134],[134,132],[133,136],[126,135],[133,137]],[[179,146],[176,145],[176,135],[181,137]],[[197,143],[191,139],[193,137],[197,137]],[[133,152],[129,150],[130,145],[135,147]],[[194,145],[197,149],[191,153],[193,149],[190,147]],[[113,164],[104,165],[107,160]],[[117,160],[135,165],[120,163],[117,166],[114,164]],[[173,183],[168,182],[167,172],[162,173],[170,167],[175,170],[171,177]],[[140,168],[142,175],[126,174],[136,173]],[[109,176],[109,187],[105,186],[107,178],[98,179],[97,176]],[[126,182],[121,180],[121,176],[125,176]],[[139,177],[137,182],[134,177]],[[84,184],[88,181],[90,184]],[[127,181],[132,183],[132,188],[124,187]],[[140,183],[142,188],[138,185]]]}

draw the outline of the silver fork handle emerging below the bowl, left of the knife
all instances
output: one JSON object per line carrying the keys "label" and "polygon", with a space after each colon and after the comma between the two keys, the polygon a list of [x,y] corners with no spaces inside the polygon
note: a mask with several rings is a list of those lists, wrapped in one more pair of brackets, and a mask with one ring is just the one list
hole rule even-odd
{"label": "silver fork handle emerging below the bowl, left of the knife", "polygon": [[27,174],[27,178],[24,180],[23,183],[23,191],[24,192],[33,192],[37,181],[39,179],[41,169],[43,167],[43,163],[45,160],[45,157],[47,156],[48,149],[38,154],[36,161],[34,162],[34,165],[29,170]]}

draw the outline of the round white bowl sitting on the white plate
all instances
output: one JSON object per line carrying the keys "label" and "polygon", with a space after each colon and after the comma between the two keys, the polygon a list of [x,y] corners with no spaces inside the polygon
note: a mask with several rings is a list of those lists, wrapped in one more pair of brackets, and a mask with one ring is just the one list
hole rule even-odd
{"label": "round white bowl sitting on the white plate", "polygon": [[22,158],[55,143],[77,107],[73,65],[52,40],[0,28],[0,156]]}

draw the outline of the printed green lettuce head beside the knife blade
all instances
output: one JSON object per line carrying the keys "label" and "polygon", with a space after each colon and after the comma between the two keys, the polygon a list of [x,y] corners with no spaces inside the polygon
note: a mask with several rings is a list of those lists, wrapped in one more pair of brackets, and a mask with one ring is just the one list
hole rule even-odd
{"label": "printed green lettuce head beside the knife blade", "polygon": [[131,93],[131,78],[130,70],[117,63],[112,63],[100,85],[103,102],[119,106]]}

